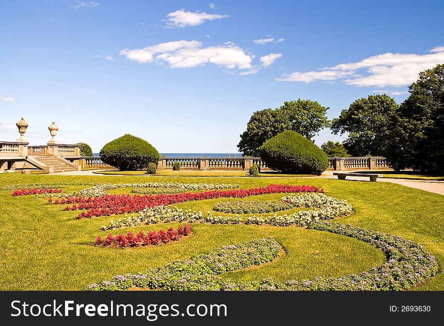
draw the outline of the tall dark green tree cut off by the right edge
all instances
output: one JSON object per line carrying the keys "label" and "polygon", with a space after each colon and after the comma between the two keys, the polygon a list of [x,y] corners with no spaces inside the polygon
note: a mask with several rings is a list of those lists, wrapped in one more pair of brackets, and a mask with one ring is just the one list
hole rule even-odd
{"label": "tall dark green tree cut off by the right edge", "polygon": [[419,73],[393,114],[385,157],[396,170],[444,172],[444,64]]}

